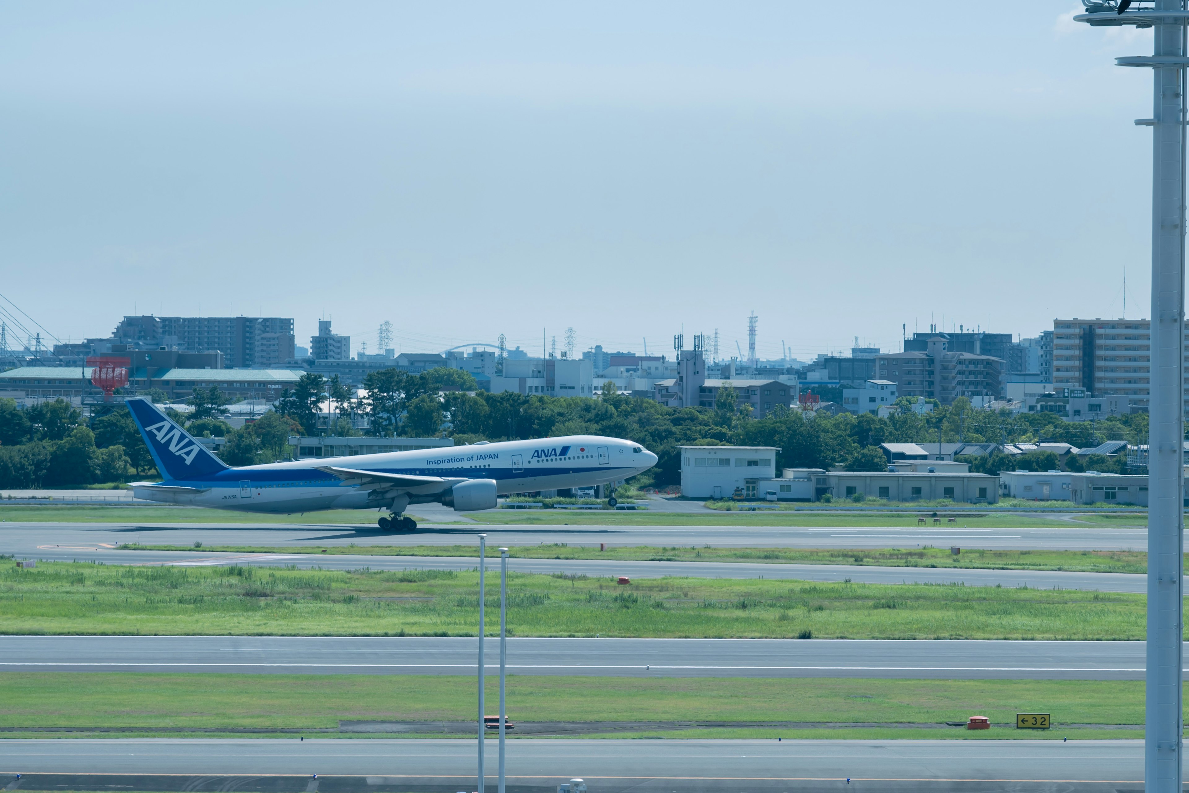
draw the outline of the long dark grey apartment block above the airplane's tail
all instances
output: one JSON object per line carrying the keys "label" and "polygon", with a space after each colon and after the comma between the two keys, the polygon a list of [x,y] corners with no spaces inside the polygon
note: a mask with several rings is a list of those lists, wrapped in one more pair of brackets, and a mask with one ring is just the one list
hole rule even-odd
{"label": "long dark grey apartment block above the airplane's tail", "polygon": [[125,316],[111,339],[87,339],[92,354],[122,350],[221,352],[231,369],[264,369],[294,357],[294,321],[282,316]]}

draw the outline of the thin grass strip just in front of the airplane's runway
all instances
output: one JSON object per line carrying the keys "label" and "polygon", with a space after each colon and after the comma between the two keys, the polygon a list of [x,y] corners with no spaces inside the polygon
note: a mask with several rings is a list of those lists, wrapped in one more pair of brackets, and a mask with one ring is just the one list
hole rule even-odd
{"label": "thin grass strip just in front of the airplane's runway", "polygon": [[[287,553],[367,556],[477,556],[474,546],[150,546],[121,545],[131,550]],[[612,546],[599,550],[592,546],[551,543],[509,549],[514,559],[602,559],[605,561],[712,561],[765,562],[772,565],[866,565],[879,567],[939,567],[961,569],[1053,569],[1084,573],[1146,573],[1147,554],[1137,550],[981,550],[967,549],[958,555],[949,548],[711,548]],[[499,550],[487,548],[487,556],[498,559]]]}

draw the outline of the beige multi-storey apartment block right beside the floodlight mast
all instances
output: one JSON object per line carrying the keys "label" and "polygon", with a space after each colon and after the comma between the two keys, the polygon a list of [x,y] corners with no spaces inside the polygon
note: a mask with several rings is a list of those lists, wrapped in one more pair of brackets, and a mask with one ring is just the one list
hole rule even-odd
{"label": "beige multi-storey apartment block right beside the floodlight mast", "polygon": [[[1150,320],[1053,320],[1052,385],[1095,397],[1127,397],[1146,409],[1151,373]],[[1189,344],[1189,332],[1185,333]],[[1189,377],[1184,385],[1189,386]],[[1183,394],[1189,389],[1183,388]],[[1189,411],[1189,399],[1184,399]]]}

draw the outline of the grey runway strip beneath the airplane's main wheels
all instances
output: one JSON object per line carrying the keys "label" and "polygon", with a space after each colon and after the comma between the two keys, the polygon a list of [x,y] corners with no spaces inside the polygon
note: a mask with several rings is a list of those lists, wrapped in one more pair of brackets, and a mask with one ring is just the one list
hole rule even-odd
{"label": "grey runway strip beneath the airplane's main wheels", "polygon": [[[51,508],[46,508],[51,509]],[[383,546],[487,545],[526,546],[712,546],[748,548],[914,548],[918,546],[987,549],[1144,550],[1143,527],[1096,527],[1070,522],[1046,528],[942,527],[789,527],[789,525],[441,525],[422,524],[414,533],[382,534],[371,523],[0,523],[0,552],[32,553],[46,543],[94,546]],[[562,521],[565,516],[558,517]]]}

